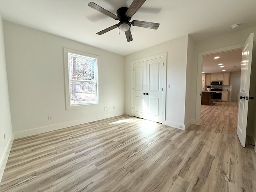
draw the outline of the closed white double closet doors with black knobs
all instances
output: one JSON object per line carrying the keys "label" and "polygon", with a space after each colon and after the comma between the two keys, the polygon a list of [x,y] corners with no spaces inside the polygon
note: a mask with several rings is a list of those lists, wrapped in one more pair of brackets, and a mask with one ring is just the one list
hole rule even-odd
{"label": "closed white double closet doors with black knobs", "polygon": [[133,115],[162,123],[163,58],[133,65]]}

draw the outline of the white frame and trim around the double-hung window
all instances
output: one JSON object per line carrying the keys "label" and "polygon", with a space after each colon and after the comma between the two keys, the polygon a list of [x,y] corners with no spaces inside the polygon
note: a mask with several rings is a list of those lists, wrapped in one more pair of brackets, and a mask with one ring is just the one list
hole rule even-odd
{"label": "white frame and trim around the double-hung window", "polygon": [[[86,108],[88,106],[92,105],[99,105],[100,104],[100,97],[99,97],[99,60],[100,56],[77,51],[77,50],[72,50],[68,48],[63,48],[63,53],[64,53],[64,73],[65,73],[65,94],[66,94],[66,110],[72,110],[72,109],[79,109],[79,108]],[[71,91],[70,91],[70,78],[69,78],[69,72],[68,72],[68,54],[77,54],[77,55],[82,55],[87,58],[92,58],[93,60],[96,60],[96,66],[95,66],[95,78],[96,78],[96,97],[97,97],[97,102],[95,103],[86,103],[86,104],[71,104]]]}

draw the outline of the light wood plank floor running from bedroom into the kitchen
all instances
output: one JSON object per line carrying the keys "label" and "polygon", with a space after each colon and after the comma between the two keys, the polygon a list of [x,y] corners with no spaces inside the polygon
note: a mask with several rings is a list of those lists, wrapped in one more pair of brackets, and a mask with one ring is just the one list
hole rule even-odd
{"label": "light wood plank floor running from bedroom into the kitchen", "polygon": [[17,139],[0,191],[256,192],[236,103],[202,106],[201,119],[183,131],[124,115]]}

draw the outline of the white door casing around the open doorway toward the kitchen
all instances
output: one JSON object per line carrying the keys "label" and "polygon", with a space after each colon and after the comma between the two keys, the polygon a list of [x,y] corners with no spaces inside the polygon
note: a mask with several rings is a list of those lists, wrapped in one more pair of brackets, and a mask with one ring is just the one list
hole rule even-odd
{"label": "white door casing around the open doorway toward the kitchen", "polygon": [[203,56],[210,55],[210,54],[216,54],[236,49],[242,49],[244,44],[236,44],[232,46],[222,47],[218,49],[213,49],[209,51],[199,52],[198,53],[198,65],[197,65],[197,88],[196,88],[196,125],[200,125],[201,119],[201,93],[202,93],[202,68],[203,68]]}

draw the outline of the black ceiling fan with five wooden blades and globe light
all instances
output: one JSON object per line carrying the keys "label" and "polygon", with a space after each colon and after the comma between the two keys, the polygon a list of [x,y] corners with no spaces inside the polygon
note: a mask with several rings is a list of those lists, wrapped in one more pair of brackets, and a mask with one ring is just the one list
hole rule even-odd
{"label": "black ceiling fan with five wooden blades and globe light", "polygon": [[150,28],[150,29],[157,29],[159,27],[159,23],[153,23],[153,22],[146,22],[146,21],[138,21],[138,20],[133,20],[130,22],[132,16],[138,11],[138,9],[142,6],[142,4],[146,0],[133,0],[132,4],[130,5],[129,8],[127,7],[121,7],[116,11],[116,14],[113,14],[109,12],[108,10],[102,8],[101,6],[95,4],[94,2],[90,2],[88,4],[89,7],[115,19],[119,20],[120,22],[118,24],[115,24],[111,27],[108,27],[100,32],[98,32],[98,35],[102,35],[106,32],[109,32],[110,30],[113,30],[115,28],[119,28],[120,30],[125,32],[126,39],[128,42],[132,41],[132,34],[130,27],[131,25],[137,26],[137,27],[144,27],[144,28]]}

